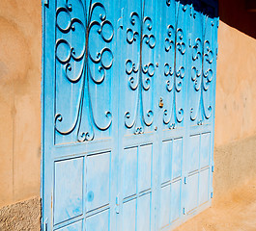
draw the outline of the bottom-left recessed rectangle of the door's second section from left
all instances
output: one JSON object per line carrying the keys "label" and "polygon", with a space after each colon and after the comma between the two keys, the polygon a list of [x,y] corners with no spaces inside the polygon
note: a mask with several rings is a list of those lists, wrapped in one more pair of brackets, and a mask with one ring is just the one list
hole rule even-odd
{"label": "bottom-left recessed rectangle of the door's second section from left", "polygon": [[123,205],[123,231],[136,230],[136,199]]}

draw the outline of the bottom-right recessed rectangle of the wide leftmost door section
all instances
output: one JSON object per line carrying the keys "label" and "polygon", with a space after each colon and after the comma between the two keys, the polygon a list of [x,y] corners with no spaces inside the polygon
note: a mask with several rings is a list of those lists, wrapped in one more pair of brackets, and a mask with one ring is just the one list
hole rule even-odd
{"label": "bottom-right recessed rectangle of the wide leftmost door section", "polygon": [[109,230],[109,209],[86,218],[86,231],[108,231]]}

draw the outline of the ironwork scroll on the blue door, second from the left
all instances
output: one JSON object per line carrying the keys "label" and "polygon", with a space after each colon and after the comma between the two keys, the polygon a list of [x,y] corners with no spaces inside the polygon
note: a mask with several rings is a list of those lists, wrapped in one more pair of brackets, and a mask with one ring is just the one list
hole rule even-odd
{"label": "ironwork scroll on the blue door, second from the left", "polygon": [[138,92],[137,105],[134,118],[131,118],[131,113],[128,111],[125,115],[125,125],[128,129],[134,127],[134,134],[144,133],[145,126],[151,126],[154,119],[152,110],[144,111],[143,91],[148,91],[151,88],[151,79],[155,74],[155,64],[143,64],[142,53],[144,49],[148,51],[154,49],[156,38],[152,33],[153,21],[151,17],[144,16],[144,8],[142,18],[138,13],[130,13],[129,17],[130,28],[127,30],[127,42],[132,45],[139,42],[139,63],[136,64],[131,60],[127,60],[126,73],[128,75],[128,87],[130,90]]}

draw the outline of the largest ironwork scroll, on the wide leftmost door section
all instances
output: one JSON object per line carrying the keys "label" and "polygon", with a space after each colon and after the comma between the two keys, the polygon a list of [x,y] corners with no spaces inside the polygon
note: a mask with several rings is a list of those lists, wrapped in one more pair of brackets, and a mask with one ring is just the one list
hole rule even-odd
{"label": "largest ironwork scroll, on the wide leftmost door section", "polygon": [[[107,20],[105,8],[101,3],[90,1],[86,8],[81,0],[63,2],[65,4],[56,11],[56,33],[59,35],[56,40],[56,64],[61,65],[64,73],[62,76],[70,85],[80,85],[81,88],[72,123],[67,124],[62,112],[56,112],[55,131],[63,136],[77,132],[77,141],[92,141],[95,137],[94,127],[101,131],[107,130],[112,123],[112,114],[106,111],[104,121],[107,123],[104,126],[98,124],[94,116],[89,83],[100,86],[104,82],[106,73],[113,64],[113,54],[106,46],[98,47],[98,51],[94,48],[92,52],[89,40],[91,32],[94,31],[97,32],[94,34],[98,35],[97,39],[109,44],[114,37],[114,28]],[[89,9],[88,12],[85,9]],[[79,40],[65,39],[71,38],[71,33],[78,30]],[[75,47],[77,43],[79,47]],[[63,127],[70,128],[64,130]]]}

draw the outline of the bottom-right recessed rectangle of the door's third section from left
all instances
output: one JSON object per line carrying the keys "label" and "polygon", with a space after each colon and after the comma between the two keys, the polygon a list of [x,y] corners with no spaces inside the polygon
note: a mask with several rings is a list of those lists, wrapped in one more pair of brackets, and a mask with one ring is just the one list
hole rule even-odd
{"label": "bottom-right recessed rectangle of the door's third section from left", "polygon": [[171,185],[171,222],[181,217],[182,180]]}

